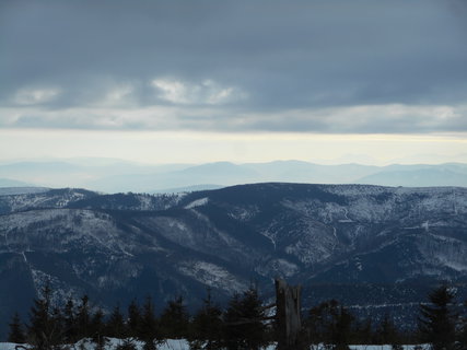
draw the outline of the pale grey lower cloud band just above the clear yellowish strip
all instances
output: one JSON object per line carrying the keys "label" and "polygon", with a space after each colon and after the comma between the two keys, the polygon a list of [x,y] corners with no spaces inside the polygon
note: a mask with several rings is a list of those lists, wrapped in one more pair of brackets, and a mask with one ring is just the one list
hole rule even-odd
{"label": "pale grey lower cloud band just above the clear yellowish strip", "polygon": [[291,109],[276,113],[243,113],[210,107],[31,108],[14,117],[0,109],[0,128],[101,129],[101,130],[197,130],[325,133],[424,133],[467,132],[467,105],[373,105]]}

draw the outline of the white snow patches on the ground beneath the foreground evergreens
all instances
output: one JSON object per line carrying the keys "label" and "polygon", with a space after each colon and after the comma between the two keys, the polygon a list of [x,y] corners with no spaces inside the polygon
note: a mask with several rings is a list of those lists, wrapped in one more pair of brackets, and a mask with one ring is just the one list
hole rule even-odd
{"label": "white snow patches on the ground beneath the foreground evergreens", "polygon": [[[121,339],[108,338],[105,346],[105,350],[115,350],[118,345],[122,343]],[[133,341],[138,350],[142,350],[143,343],[140,341]],[[12,342],[0,342],[0,350],[15,350],[15,343]],[[415,346],[404,346],[404,350],[412,350]],[[91,341],[80,340],[75,345],[67,347],[70,350],[94,350],[95,345]],[[269,346],[265,350],[273,350],[276,346]],[[322,347],[312,347],[311,350],[320,350]],[[350,346],[352,350],[390,350],[390,346]],[[428,349],[427,346],[422,349]],[[189,350],[188,341],[183,339],[167,339],[163,343],[157,346],[157,350]]]}

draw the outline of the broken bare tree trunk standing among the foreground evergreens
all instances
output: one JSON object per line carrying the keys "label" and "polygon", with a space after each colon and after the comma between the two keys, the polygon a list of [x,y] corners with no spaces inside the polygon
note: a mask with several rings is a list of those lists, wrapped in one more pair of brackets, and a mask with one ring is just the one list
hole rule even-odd
{"label": "broken bare tree trunk standing among the foreground evergreens", "polygon": [[288,285],[285,281],[276,279],[278,350],[305,349],[301,339],[301,285]]}

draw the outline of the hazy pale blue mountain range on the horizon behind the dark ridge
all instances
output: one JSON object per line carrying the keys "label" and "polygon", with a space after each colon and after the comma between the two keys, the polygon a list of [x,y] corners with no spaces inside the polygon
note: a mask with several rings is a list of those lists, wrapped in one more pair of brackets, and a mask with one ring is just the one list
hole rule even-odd
{"label": "hazy pale blue mountain range on the horizon behind the dark ridge", "polygon": [[276,161],[142,165],[119,160],[83,159],[0,165],[0,187],[81,187],[103,192],[161,192],[264,182],[409,187],[467,186],[467,164],[371,166]]}

